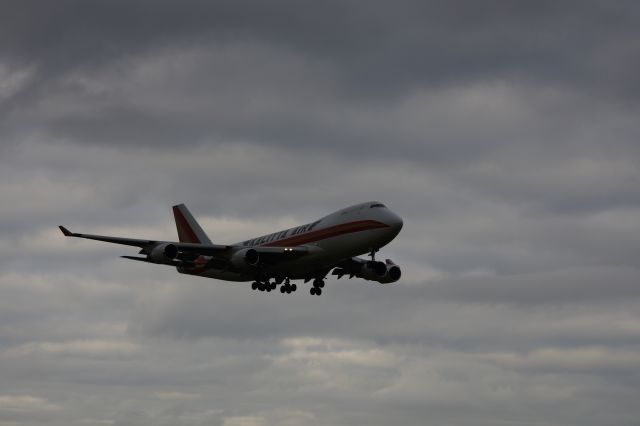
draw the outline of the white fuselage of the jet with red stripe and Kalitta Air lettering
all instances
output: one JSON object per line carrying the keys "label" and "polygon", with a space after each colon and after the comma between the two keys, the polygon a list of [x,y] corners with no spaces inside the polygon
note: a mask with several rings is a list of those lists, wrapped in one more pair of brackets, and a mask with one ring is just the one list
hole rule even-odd
{"label": "white fuselage of the jet with red stripe and Kalitta Air lettering", "polygon": [[[273,234],[252,238],[234,246],[305,247],[308,254],[265,266],[261,273],[273,277],[306,279],[326,273],[341,261],[385,246],[402,228],[402,219],[384,205],[372,201],[339,210],[322,219]],[[196,267],[178,267],[178,272],[227,281],[252,281],[256,272],[247,269],[212,268],[201,256]]]}

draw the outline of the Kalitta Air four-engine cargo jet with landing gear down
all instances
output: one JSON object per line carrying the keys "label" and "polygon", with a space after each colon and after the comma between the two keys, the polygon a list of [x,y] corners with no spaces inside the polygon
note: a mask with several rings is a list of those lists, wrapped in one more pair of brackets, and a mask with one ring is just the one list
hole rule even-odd
{"label": "Kalitta Air four-engine cargo jet with landing gear down", "polygon": [[[392,260],[375,254],[402,229],[402,219],[378,201],[356,204],[305,225],[230,245],[213,244],[184,204],[173,206],[178,242],[80,234],[59,226],[67,237],[139,247],[144,256],[125,259],[176,267],[181,274],[225,281],[252,281],[253,290],[281,293],[297,290],[292,280],[312,281],[310,294],[320,296],[332,272],[381,284],[402,273]],[[371,259],[358,256],[368,254]]]}

